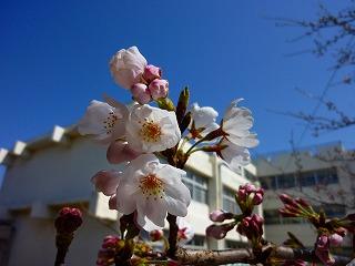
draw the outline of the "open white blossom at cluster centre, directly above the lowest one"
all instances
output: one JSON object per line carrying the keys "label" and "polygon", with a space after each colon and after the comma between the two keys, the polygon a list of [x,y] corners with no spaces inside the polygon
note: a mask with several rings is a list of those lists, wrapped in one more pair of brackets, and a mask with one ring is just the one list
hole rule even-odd
{"label": "open white blossom at cluster centre, directly above the lowest one", "polygon": [[181,139],[174,112],[150,105],[132,108],[126,123],[126,140],[136,152],[160,152],[173,147]]}

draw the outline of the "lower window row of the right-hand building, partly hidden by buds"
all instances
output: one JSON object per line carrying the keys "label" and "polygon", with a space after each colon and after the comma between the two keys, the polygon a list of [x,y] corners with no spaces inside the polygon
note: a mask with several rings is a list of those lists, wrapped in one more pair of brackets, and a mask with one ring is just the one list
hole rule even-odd
{"label": "lower window row of the right-hand building, partly hidden by buds", "polygon": [[[320,211],[321,208],[325,212],[327,217],[342,217],[345,216],[345,206],[338,205],[323,205],[313,206],[314,211]],[[265,224],[302,224],[305,223],[303,218],[298,217],[282,217],[277,209],[264,209]]]}

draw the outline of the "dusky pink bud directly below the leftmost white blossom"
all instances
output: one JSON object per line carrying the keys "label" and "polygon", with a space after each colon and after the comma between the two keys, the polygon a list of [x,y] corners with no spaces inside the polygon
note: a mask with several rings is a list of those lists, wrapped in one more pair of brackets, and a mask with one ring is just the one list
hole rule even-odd
{"label": "dusky pink bud directly below the leftmost white blossom", "polygon": [[135,152],[124,142],[112,142],[106,152],[106,158],[111,164],[120,164],[136,158],[140,153]]}

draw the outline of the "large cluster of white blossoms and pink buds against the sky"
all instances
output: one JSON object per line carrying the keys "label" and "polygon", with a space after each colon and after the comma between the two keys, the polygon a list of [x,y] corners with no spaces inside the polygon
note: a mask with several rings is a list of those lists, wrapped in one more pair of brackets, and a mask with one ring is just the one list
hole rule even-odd
{"label": "large cluster of white blossoms and pink buds against the sky", "polygon": [[[122,171],[98,172],[92,183],[110,196],[110,208],[124,215],[134,213],[140,228],[162,228],[166,214],[186,216],[191,195],[182,183],[185,172],[181,168],[192,153],[215,152],[232,168],[250,162],[247,147],[257,145],[257,140],[250,132],[250,110],[237,106],[241,100],[232,102],[219,125],[213,108],[194,103],[187,110],[186,90],[175,108],[168,99],[169,82],[162,79],[161,69],[148,64],[136,47],[118,51],[110,70],[115,83],[130,90],[133,103],[125,105],[109,96],[104,102],[93,100],[78,131],[108,145],[111,164],[125,165]],[[148,104],[152,101],[158,106]],[[193,144],[186,152],[187,142]],[[201,146],[203,142],[207,145]]]}

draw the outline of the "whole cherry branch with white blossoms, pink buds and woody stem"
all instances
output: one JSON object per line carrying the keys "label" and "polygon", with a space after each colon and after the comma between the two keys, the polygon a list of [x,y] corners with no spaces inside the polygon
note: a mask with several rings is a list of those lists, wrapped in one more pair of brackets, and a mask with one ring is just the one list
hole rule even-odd
{"label": "whole cherry branch with white blossoms, pink buds and woody stem", "polygon": [[[254,120],[246,108],[239,106],[242,99],[233,101],[220,124],[217,112],[197,103],[189,109],[190,91],[182,90],[178,104],[169,98],[169,82],[162,79],[160,68],[148,64],[133,47],[120,50],[110,62],[115,82],[130,90],[135,101],[131,106],[105,98],[106,102],[92,101],[78,130],[108,144],[106,157],[111,164],[123,163],[120,171],[100,171],[92,177],[98,192],[110,196],[109,208],[116,209],[121,236],[104,238],[97,265],[221,265],[230,263],[273,264],[302,259],[322,260],[327,265],[345,265],[349,258],[332,257],[329,245],[339,244],[343,228],[354,227],[354,217],[326,221],[302,200],[286,195],[281,200],[285,216],[306,217],[317,229],[315,250],[274,246],[263,238],[264,219],[253,212],[263,202],[264,191],[252,184],[241,185],[235,203],[241,214],[222,209],[210,214],[213,224],[206,235],[222,239],[236,229],[250,241],[252,248],[231,250],[193,250],[178,246],[192,238],[193,232],[182,222],[187,215],[191,193],[182,182],[190,155],[197,151],[215,153],[232,170],[247,165],[248,150],[258,144],[250,129]],[[153,102],[158,106],[148,103]],[[186,133],[187,132],[187,133]],[[184,149],[186,142],[190,149]],[[160,162],[164,157],[169,164]],[[169,238],[162,228],[169,222]],[[226,221],[226,222],[225,222]],[[225,222],[225,223],[224,223]],[[140,232],[150,232],[152,241],[163,241],[164,250],[139,239]],[[284,263],[285,263],[284,262]],[[332,264],[328,264],[331,262]]]}

